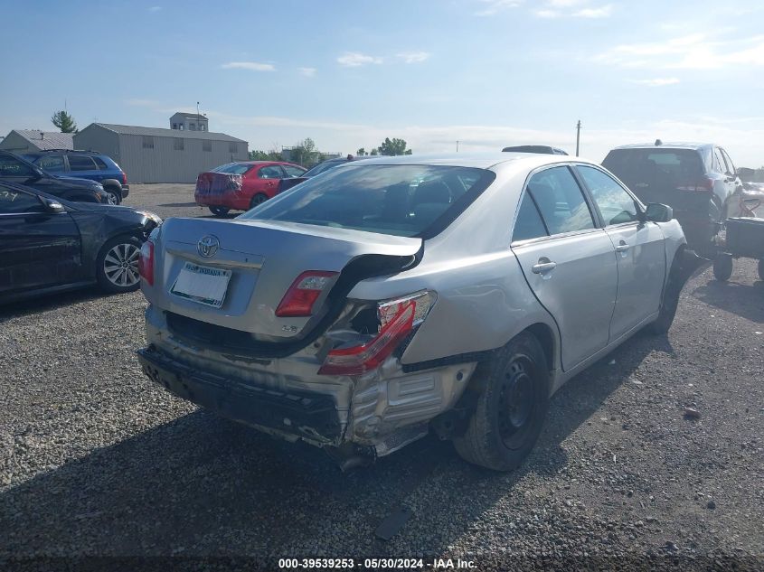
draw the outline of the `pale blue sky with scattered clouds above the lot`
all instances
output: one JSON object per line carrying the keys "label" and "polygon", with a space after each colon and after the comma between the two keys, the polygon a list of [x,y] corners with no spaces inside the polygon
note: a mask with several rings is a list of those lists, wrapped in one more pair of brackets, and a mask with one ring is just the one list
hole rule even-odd
{"label": "pale blue sky with scattered clouds above the lot", "polygon": [[[354,153],[702,140],[764,164],[760,0],[5,0],[0,134],[67,108],[269,150]],[[9,49],[9,46],[17,47]]]}

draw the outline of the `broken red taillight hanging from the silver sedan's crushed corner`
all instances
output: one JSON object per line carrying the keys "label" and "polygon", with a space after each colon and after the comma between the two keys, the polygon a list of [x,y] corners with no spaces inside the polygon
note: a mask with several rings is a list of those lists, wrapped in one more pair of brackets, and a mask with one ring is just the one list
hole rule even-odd
{"label": "broken red taillight hanging from the silver sedan's crushed corner", "polygon": [[423,292],[377,307],[380,331],[372,340],[351,347],[337,348],[326,355],[321,375],[362,375],[382,365],[392,352],[427,317],[435,302],[432,292]]}

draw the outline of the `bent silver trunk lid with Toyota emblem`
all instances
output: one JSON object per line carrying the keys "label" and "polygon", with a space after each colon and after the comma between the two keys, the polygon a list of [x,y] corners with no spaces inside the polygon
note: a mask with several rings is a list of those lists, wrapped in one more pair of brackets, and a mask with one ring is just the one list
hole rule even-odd
{"label": "bent silver trunk lid with Toyota emblem", "polygon": [[[200,241],[212,237],[200,246]],[[305,337],[344,295],[365,277],[392,274],[410,265],[421,239],[262,220],[165,220],[156,239],[155,283],[146,298],[168,313],[214,324],[256,341],[288,342]],[[207,254],[207,256],[203,256]],[[172,292],[187,264],[230,273],[220,307]],[[337,272],[308,317],[278,317],[276,308],[295,279],[307,270]],[[188,327],[200,324],[184,323]],[[222,332],[219,332],[222,333]]]}

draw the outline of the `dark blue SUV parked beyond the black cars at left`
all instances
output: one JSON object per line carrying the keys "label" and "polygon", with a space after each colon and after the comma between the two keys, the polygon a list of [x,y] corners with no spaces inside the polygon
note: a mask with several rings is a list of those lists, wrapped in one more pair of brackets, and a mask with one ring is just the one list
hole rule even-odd
{"label": "dark blue SUV parked beyond the black cars at left", "polygon": [[77,177],[101,183],[110,204],[119,204],[130,192],[127,174],[108,155],[95,151],[49,149],[24,156],[54,176]]}

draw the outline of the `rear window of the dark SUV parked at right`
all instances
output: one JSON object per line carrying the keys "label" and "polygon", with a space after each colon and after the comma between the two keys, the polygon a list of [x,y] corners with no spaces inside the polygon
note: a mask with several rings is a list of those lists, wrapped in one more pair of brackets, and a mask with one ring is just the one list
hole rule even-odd
{"label": "rear window of the dark SUV parked at right", "polygon": [[704,173],[701,156],[692,149],[614,149],[602,166],[628,186],[654,180],[695,182]]}

